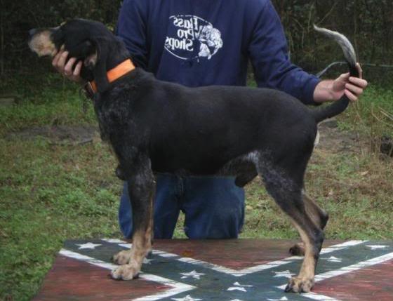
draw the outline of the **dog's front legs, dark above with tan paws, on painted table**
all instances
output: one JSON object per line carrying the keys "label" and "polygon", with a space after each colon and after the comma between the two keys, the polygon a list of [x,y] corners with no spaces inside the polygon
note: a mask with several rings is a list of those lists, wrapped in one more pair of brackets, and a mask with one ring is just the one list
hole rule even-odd
{"label": "dog's front legs, dark above with tan paws, on painted table", "polygon": [[132,170],[132,175],[127,174],[127,178],[133,208],[133,243],[131,250],[114,255],[114,262],[121,265],[112,271],[114,279],[136,278],[143,259],[152,248],[154,175],[148,159],[143,163],[139,162],[138,167],[133,162]]}

